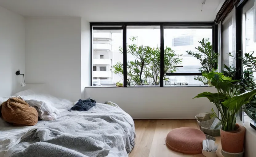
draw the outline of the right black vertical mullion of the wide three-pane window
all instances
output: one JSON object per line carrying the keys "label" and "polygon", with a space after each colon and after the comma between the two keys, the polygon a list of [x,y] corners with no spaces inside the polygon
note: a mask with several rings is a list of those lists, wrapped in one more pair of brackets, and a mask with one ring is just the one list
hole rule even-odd
{"label": "right black vertical mullion of the wide three-pane window", "polygon": [[164,86],[164,25],[160,25],[160,87]]}

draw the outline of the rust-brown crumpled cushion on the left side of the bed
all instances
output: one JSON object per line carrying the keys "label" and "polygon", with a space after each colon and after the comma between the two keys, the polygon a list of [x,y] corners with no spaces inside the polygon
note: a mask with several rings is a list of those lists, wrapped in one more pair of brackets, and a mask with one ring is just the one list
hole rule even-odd
{"label": "rust-brown crumpled cushion on the left side of the bed", "polygon": [[13,97],[2,103],[2,118],[17,126],[32,126],[38,122],[38,113],[20,97]]}

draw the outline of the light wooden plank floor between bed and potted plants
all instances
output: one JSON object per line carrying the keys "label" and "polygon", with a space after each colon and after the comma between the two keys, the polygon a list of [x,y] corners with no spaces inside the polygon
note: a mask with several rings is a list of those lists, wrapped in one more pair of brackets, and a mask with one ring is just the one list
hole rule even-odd
{"label": "light wooden plank floor between bed and potted plants", "polygon": [[[171,151],[165,145],[168,132],[174,128],[191,127],[198,128],[196,120],[134,120],[135,122],[135,147],[129,157],[204,157],[202,154],[187,155]],[[219,145],[217,156],[221,155],[220,137],[216,137]]]}

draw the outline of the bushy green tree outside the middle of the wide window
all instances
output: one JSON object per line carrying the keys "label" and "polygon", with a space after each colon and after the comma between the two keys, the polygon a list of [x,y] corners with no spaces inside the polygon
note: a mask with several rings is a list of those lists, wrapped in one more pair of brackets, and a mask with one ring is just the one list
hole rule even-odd
{"label": "bushy green tree outside the middle of the wide window", "polygon": [[[137,40],[137,36],[132,36],[130,40]],[[119,48],[119,51],[123,53],[122,48]],[[127,53],[132,54],[135,59],[134,61],[127,62],[127,85],[159,84],[160,48],[130,44],[127,45]],[[165,48],[164,74],[177,70],[175,65],[182,63],[182,59],[179,58],[180,56],[182,55],[175,54],[171,48]],[[116,63],[113,68],[115,74],[123,75],[122,63]],[[166,77],[164,79],[166,79]]]}

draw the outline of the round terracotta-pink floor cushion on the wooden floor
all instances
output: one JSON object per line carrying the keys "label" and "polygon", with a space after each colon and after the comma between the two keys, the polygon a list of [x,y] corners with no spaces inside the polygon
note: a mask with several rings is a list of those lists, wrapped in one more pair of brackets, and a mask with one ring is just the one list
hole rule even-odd
{"label": "round terracotta-pink floor cushion on the wooden floor", "polygon": [[166,137],[166,146],[177,152],[186,154],[202,153],[202,142],[205,134],[195,128],[176,128],[170,131]]}

